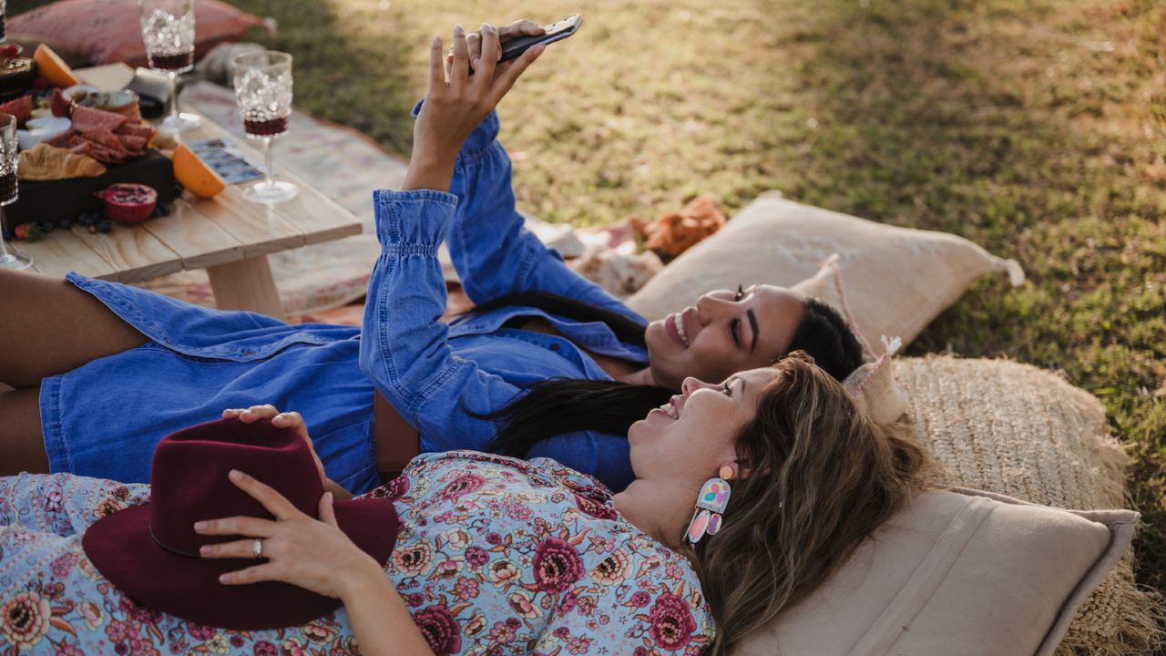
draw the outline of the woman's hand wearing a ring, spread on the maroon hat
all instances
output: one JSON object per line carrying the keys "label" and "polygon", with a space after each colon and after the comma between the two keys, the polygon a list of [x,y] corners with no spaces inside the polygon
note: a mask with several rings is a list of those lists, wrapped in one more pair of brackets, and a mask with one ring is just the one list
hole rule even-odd
{"label": "woman's hand wearing a ring, spread on the maroon hat", "polygon": [[370,580],[384,570],[337,526],[332,494],[319,498],[319,519],[301,512],[269,486],[231,470],[231,482],[264,504],[275,521],[258,517],[226,517],[195,523],[195,531],[208,536],[243,536],[245,539],[204,545],[203,558],[254,558],[255,539],[262,540],[266,561],[219,577],[224,585],[283,581],[335,599]]}

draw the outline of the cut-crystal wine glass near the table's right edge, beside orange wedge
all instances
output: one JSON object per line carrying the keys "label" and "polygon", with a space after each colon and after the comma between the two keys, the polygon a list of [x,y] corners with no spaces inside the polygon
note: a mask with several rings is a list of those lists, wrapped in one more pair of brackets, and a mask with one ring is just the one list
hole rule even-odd
{"label": "cut-crystal wine glass near the table's right edge, beside orange wedge", "polygon": [[264,181],[243,197],[253,203],[281,203],[300,193],[300,187],[275,180],[272,168],[272,140],[288,130],[292,116],[292,55],[265,50],[244,53],[231,62],[234,99],[248,139],[264,142]]}

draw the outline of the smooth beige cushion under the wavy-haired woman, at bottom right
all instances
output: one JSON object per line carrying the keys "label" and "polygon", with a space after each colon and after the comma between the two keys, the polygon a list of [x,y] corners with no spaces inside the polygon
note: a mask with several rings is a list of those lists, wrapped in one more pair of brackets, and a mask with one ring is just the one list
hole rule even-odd
{"label": "smooth beige cushion under the wavy-haired woman, at bottom right", "polygon": [[1137,517],[972,490],[920,495],[738,654],[1051,655]]}

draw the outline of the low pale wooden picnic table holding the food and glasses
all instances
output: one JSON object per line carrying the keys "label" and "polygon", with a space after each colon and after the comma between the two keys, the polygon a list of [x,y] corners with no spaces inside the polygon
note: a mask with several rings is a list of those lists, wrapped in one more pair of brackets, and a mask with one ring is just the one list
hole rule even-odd
{"label": "low pale wooden picnic table holding the food and glasses", "polygon": [[[187,109],[190,111],[190,109]],[[225,138],[250,146],[203,117],[184,141]],[[257,161],[262,156],[253,151]],[[278,160],[276,160],[278,161]],[[283,306],[267,254],[359,235],[357,217],[311,186],[275,166],[278,177],[300,186],[300,195],[275,205],[244,200],[245,184],[229,184],[213,198],[183,193],[170,215],[139,225],[114,224],[110,233],[91,235],[73,225],[43,240],[17,242],[33,256],[33,268],[51,275],[76,271],[103,280],[140,282],[182,270],[205,268],[215,302],[222,309],[248,309],[283,319]]]}

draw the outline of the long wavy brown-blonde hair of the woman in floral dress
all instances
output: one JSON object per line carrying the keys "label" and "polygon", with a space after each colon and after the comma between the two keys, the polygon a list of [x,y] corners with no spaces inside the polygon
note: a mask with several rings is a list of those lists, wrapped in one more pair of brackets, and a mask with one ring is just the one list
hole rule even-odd
{"label": "long wavy brown-blonde hair of the woman in floral dress", "polygon": [[731,481],[723,526],[695,549],[682,542],[717,623],[711,656],[828,579],[933,467],[905,425],[872,421],[803,351],[773,367],[736,439],[746,475]]}

